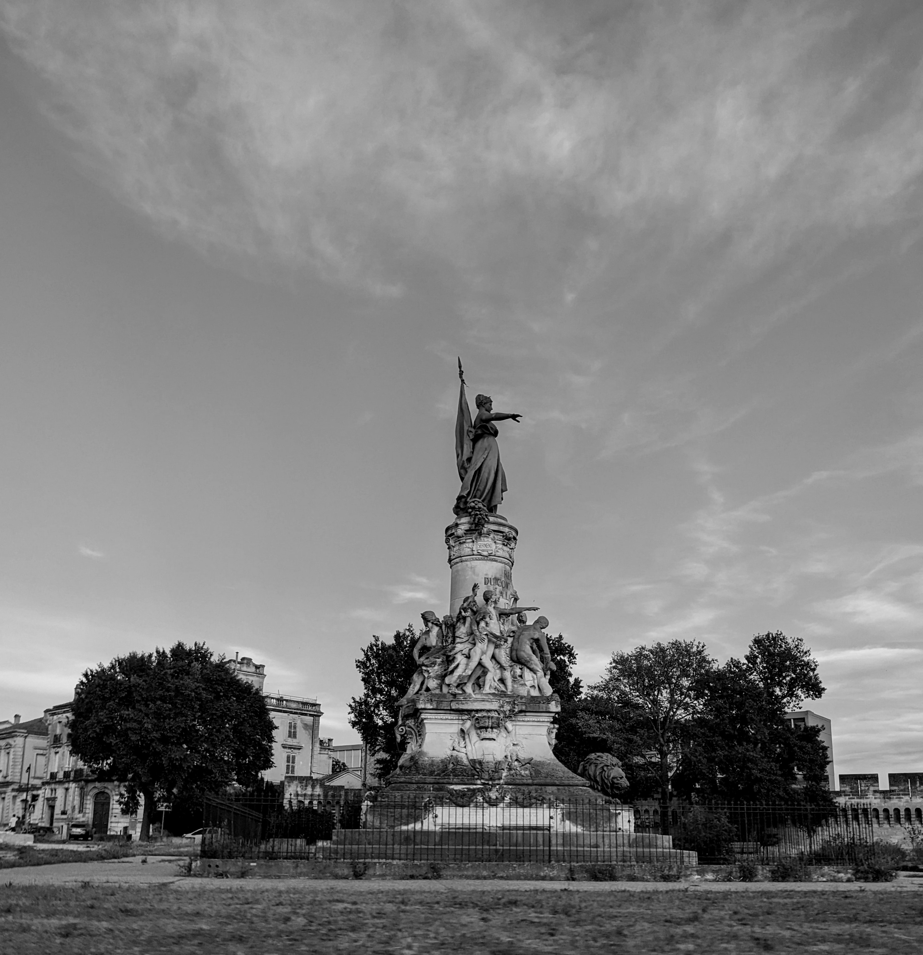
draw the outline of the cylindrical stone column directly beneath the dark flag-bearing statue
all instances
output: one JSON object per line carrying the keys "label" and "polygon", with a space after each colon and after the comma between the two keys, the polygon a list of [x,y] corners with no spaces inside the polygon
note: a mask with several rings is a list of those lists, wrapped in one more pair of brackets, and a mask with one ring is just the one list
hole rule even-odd
{"label": "cylindrical stone column directly beneath the dark flag-bearing statue", "polygon": [[513,603],[513,551],[519,531],[497,514],[489,515],[477,532],[471,523],[471,518],[462,515],[445,528],[452,568],[449,613],[453,616],[473,584],[479,584],[479,604],[483,604],[484,590],[497,591],[501,606]]}

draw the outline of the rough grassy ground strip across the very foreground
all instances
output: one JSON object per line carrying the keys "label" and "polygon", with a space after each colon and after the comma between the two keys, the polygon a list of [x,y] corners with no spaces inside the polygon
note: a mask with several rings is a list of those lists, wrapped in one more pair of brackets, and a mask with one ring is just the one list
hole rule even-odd
{"label": "rough grassy ground strip across the very foreground", "polygon": [[[923,951],[923,892],[453,881],[0,887],[0,951],[520,953]],[[579,886],[579,888],[578,888]],[[808,889],[808,890],[805,890]]]}

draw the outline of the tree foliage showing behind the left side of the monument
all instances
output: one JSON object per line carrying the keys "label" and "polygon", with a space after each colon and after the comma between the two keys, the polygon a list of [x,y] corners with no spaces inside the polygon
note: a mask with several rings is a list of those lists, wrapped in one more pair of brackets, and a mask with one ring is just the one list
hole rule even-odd
{"label": "tree foliage showing behind the left side of the monument", "polygon": [[362,686],[361,696],[350,701],[350,726],[358,732],[369,753],[377,753],[379,777],[397,769],[401,748],[397,741],[398,701],[407,692],[417,671],[414,645],[419,634],[412,624],[396,630],[391,643],[373,637],[355,661]]}

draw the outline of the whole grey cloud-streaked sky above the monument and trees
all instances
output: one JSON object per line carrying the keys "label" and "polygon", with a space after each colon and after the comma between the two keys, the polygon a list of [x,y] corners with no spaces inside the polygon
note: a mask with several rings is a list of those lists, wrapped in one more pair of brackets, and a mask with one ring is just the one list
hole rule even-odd
{"label": "whole grey cloud-streaked sky above the monument and trees", "polygon": [[782,629],[838,772],[923,767],[918,0],[0,25],[0,718],[204,640],[355,739],[447,609],[461,354],[582,676]]}

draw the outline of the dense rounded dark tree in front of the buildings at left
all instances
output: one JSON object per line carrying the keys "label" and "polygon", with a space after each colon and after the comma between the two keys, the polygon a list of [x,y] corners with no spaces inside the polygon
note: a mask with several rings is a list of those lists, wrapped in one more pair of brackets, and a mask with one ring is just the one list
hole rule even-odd
{"label": "dense rounded dark tree in front of the buildings at left", "polygon": [[88,669],[74,697],[72,746],[124,784],[121,801],[150,835],[158,799],[249,785],[272,765],[274,726],[262,694],[204,644],[129,653]]}

